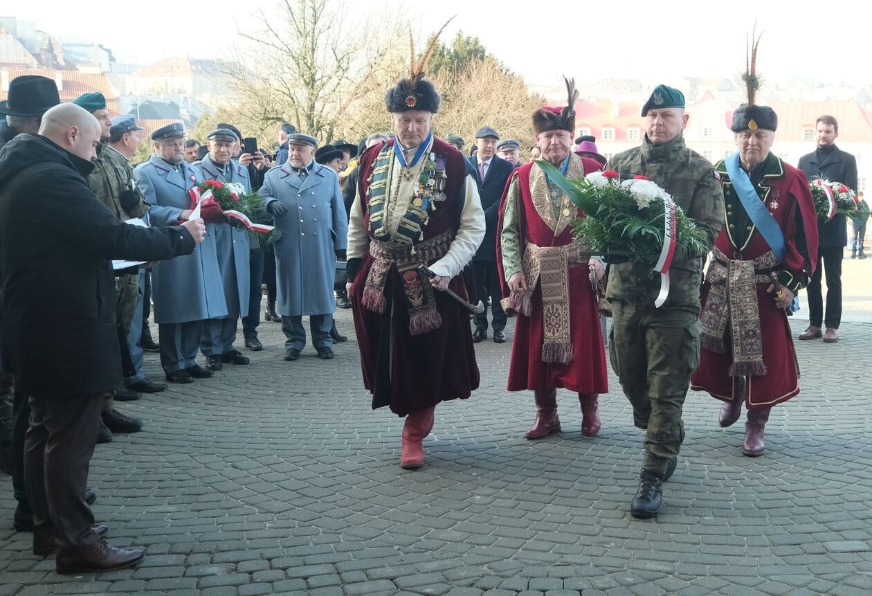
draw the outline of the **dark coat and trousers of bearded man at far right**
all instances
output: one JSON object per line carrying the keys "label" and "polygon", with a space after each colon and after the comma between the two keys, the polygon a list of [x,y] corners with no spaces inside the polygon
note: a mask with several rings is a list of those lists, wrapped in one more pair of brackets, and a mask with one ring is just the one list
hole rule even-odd
{"label": "dark coat and trousers of bearded man at far right", "polygon": [[[820,149],[800,157],[799,168],[808,180],[826,178],[841,182],[856,191],[857,161],[854,155],[845,153],[835,145],[830,151]],[[841,324],[841,258],[848,244],[848,226],[845,216],[835,216],[830,221],[818,218],[818,257],[811,283],[808,284],[808,324],[813,327],[826,325],[838,329]],[[823,313],[821,293],[821,264],[827,271],[827,316]]]}

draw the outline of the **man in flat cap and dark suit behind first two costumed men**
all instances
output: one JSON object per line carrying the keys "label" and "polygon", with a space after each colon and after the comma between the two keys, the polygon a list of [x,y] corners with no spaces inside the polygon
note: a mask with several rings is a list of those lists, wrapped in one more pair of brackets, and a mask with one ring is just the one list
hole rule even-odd
{"label": "man in flat cap and dark suit behind first two costumed men", "polygon": [[[481,241],[479,250],[473,257],[475,273],[475,296],[481,300],[491,299],[491,315],[494,324],[494,341],[498,344],[506,341],[506,313],[503,312],[500,300],[502,290],[500,274],[496,270],[496,228],[500,211],[502,191],[506,188],[508,177],[512,175],[514,166],[508,161],[496,156],[496,143],[500,135],[492,127],[481,127],[475,133],[475,145],[478,149],[470,158],[476,172],[476,182],[479,184],[481,208],[485,210],[485,239]],[[475,315],[475,331],[473,341],[478,343],[487,338],[487,309]]]}

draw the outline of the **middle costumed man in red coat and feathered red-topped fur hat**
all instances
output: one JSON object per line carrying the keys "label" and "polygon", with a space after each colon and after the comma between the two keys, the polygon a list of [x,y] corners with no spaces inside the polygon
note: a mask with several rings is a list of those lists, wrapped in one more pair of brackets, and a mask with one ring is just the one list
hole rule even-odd
{"label": "middle costumed man in red coat and feathered red-topped fur hat", "polygon": [[[575,133],[575,86],[567,81],[569,106],[533,114],[542,159],[569,180],[601,169],[571,152]],[[507,312],[517,312],[508,390],[532,389],[536,418],[527,431],[538,439],[560,430],[557,388],[578,394],[582,434],[599,432],[597,394],[609,390],[593,283],[603,264],[581,257],[569,222],[580,211],[530,162],[517,168],[502,199],[497,264]]]}

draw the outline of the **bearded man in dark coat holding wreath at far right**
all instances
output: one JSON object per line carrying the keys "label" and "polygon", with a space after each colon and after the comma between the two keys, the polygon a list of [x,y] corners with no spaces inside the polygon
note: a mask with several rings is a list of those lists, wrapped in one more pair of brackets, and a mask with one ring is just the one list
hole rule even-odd
{"label": "bearded man in dark coat holding wreath at far right", "polygon": [[[856,192],[857,161],[854,155],[835,146],[839,136],[839,123],[833,116],[821,116],[815,124],[814,134],[817,149],[800,157],[799,168],[809,181],[824,178],[841,182]],[[811,282],[806,287],[808,294],[808,328],[800,333],[800,339],[823,337],[828,343],[839,340],[841,323],[841,258],[848,244],[848,222],[845,216],[831,220],[818,218],[818,260]],[[827,314],[823,312],[821,294],[821,262],[827,271]],[[827,332],[821,332],[826,325]]]}

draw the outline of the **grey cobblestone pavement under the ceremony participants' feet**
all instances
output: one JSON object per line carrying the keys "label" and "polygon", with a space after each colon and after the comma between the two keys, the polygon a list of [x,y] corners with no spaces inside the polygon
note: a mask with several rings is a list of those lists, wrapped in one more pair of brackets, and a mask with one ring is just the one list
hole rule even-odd
{"label": "grey cobblestone pavement under the ceremony participants' feet", "polygon": [[[353,336],[348,311],[338,325]],[[872,593],[870,323],[798,342],[802,394],[773,410],[766,456],[741,456],[741,423],[719,428],[691,393],[656,521],[629,514],[642,436],[614,377],[599,436],[561,392],[564,432],[528,442],[510,345],[479,344],[482,387],[437,408],[426,466],[405,471],[353,337],[335,360],[283,362],[280,335],[264,323],[249,367],[120,404],[146,428],[98,446],[90,485],[110,542],[145,547],[137,568],[57,575],[9,529],[0,477],[0,595]],[[156,355],[146,372],[161,377]]]}

